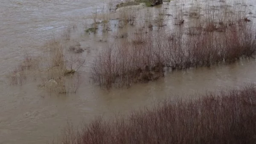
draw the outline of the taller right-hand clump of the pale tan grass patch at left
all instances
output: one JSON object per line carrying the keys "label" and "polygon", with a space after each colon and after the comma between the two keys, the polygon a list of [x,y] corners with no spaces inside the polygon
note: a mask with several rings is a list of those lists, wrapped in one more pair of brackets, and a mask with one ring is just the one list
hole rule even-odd
{"label": "taller right-hand clump of the pale tan grass patch at left", "polygon": [[81,61],[78,53],[68,53],[59,40],[49,43],[49,53],[44,59],[47,64],[44,64],[41,70],[42,86],[49,92],[76,93],[80,84],[80,75],[76,72],[85,60]]}

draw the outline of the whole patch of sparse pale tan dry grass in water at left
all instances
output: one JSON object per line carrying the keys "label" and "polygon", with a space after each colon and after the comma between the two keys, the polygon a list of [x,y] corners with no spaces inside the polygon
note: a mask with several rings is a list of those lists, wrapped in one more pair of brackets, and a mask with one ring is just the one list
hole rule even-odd
{"label": "whole patch of sparse pale tan dry grass in water at left", "polygon": [[47,51],[42,56],[26,54],[23,62],[11,72],[11,84],[21,86],[25,81],[34,80],[50,93],[76,93],[81,83],[77,71],[85,60],[80,58],[81,45],[70,40],[68,29],[61,39],[53,38],[46,43]]}

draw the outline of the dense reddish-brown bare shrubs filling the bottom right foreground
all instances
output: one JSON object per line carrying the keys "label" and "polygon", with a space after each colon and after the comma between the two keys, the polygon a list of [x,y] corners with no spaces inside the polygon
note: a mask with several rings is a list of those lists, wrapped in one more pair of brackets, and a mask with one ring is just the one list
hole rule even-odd
{"label": "dense reddish-brown bare shrubs filling the bottom right foreground", "polygon": [[[256,87],[210,93],[197,100],[164,101],[151,109],[81,130],[72,125],[60,144],[254,144]],[[53,142],[54,143],[54,142]]]}

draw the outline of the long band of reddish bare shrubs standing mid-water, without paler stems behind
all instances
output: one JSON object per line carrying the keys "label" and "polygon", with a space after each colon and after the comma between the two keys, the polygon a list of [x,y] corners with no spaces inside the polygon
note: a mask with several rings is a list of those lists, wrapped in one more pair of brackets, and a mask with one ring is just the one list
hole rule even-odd
{"label": "long band of reddish bare shrubs standing mid-water, without paler stems behind", "polygon": [[232,63],[256,54],[254,34],[254,29],[245,24],[230,26],[221,33],[200,35],[186,35],[182,31],[172,35],[139,33],[132,42],[100,52],[92,65],[92,78],[99,86],[111,88],[145,82],[141,77],[145,72],[157,75],[148,80],[156,80],[163,76],[164,68],[180,70]]}

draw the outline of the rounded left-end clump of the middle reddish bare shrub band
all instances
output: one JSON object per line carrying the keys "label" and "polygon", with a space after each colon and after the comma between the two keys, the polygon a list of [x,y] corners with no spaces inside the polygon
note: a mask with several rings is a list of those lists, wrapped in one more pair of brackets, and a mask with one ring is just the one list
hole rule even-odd
{"label": "rounded left-end clump of the middle reddish bare shrub band", "polygon": [[123,41],[100,52],[92,64],[92,78],[99,86],[110,88],[130,86],[159,78],[165,63],[164,41],[152,39],[153,33],[137,33],[132,40]]}

